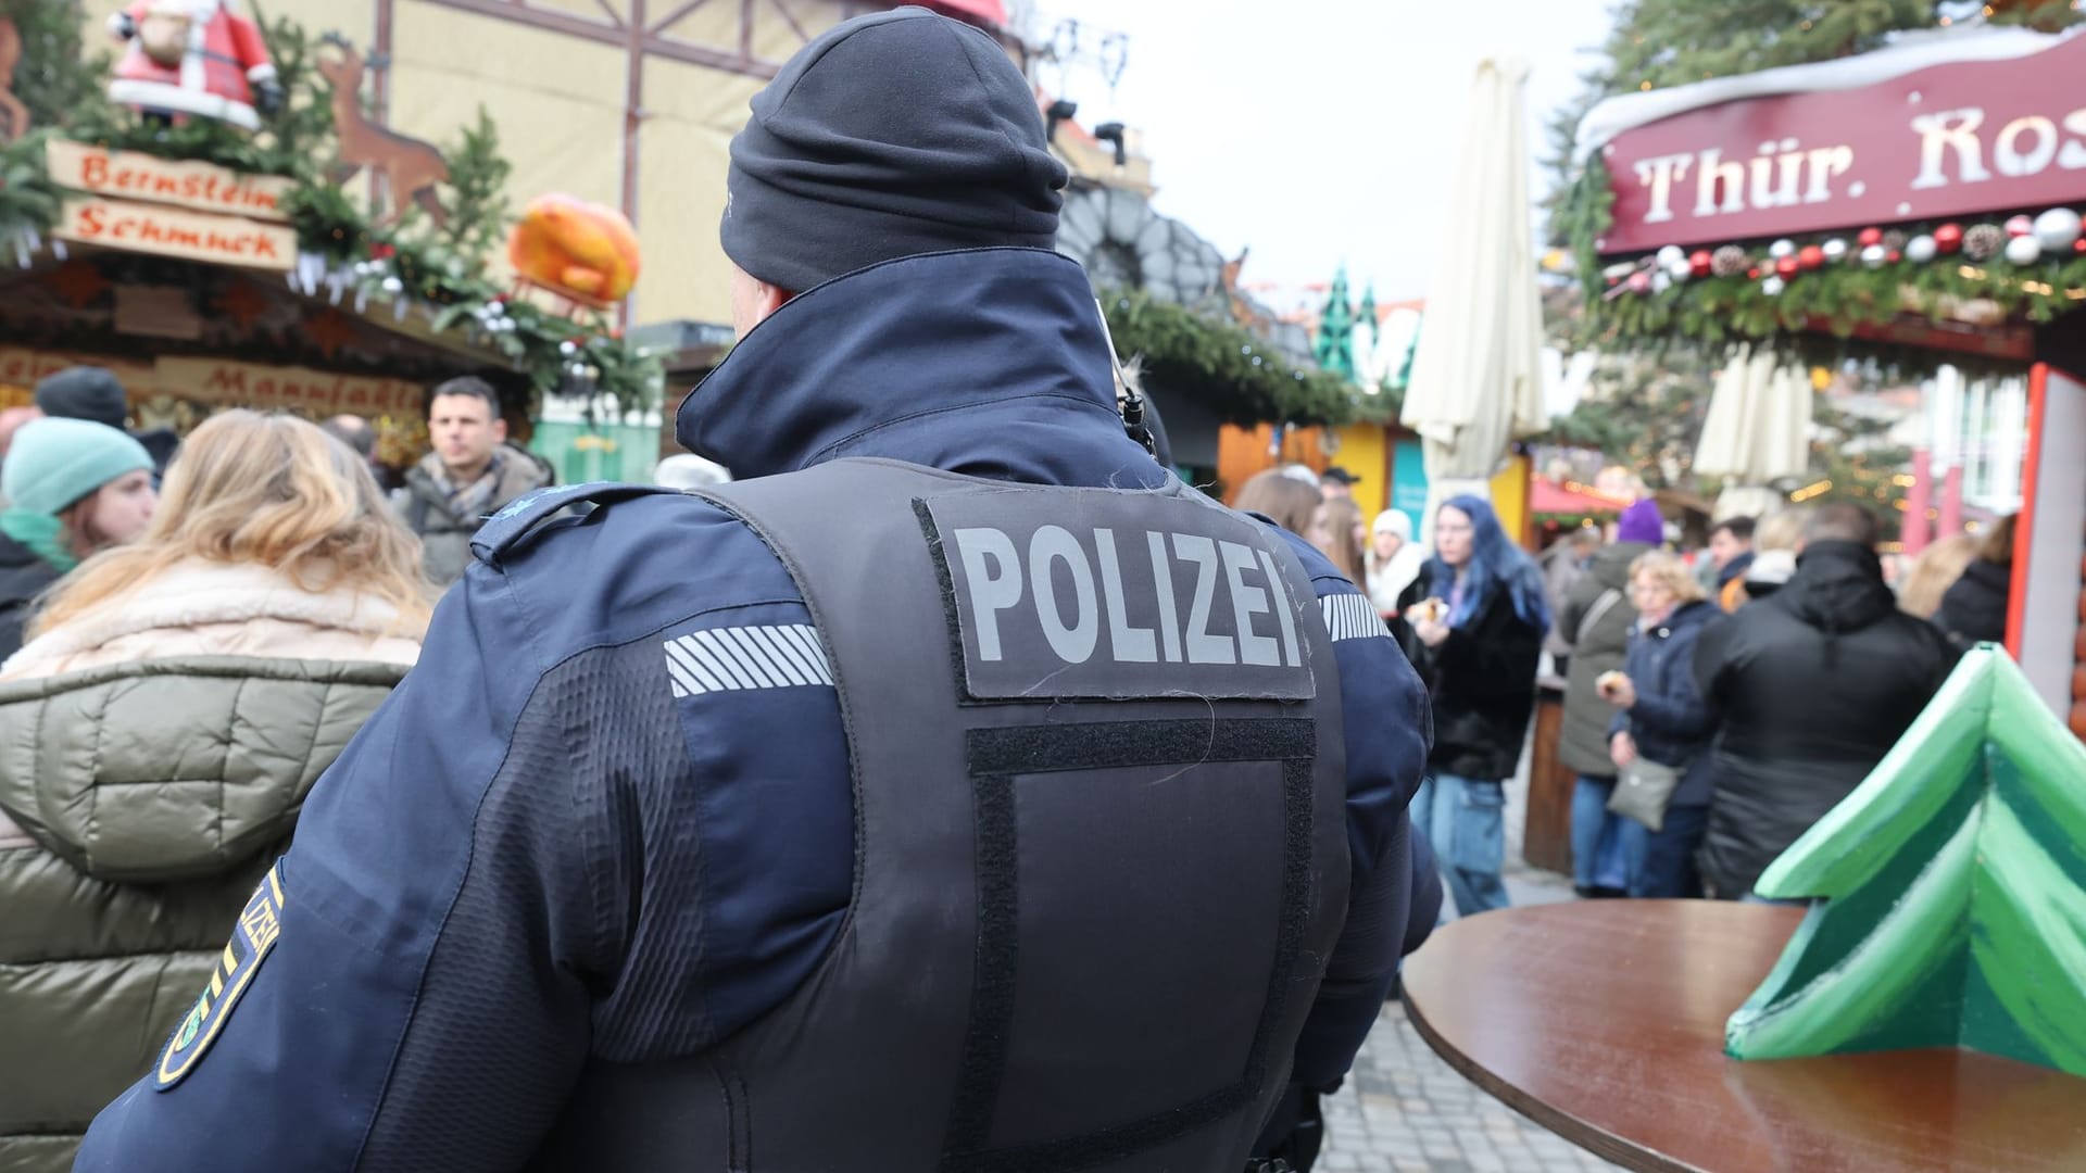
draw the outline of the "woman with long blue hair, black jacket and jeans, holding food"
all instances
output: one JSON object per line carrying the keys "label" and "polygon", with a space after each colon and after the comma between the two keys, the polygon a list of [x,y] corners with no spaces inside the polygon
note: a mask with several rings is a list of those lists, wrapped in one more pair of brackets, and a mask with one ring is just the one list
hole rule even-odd
{"label": "woman with long blue hair, black jacket and jeans, holding food", "polygon": [[1506,791],[1535,712],[1535,662],[1550,607],[1544,576],[1481,497],[1435,513],[1435,555],[1406,589],[1406,653],[1433,697],[1433,753],[1412,799],[1456,912],[1506,908]]}

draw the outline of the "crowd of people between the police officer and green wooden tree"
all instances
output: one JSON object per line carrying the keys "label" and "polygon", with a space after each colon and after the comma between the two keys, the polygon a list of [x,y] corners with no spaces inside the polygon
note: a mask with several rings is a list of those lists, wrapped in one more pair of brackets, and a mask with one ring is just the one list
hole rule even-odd
{"label": "crowd of people between the police officer and green wooden tree", "polygon": [[1323,501],[1312,480],[1264,472],[1235,505],[1325,549],[1427,680],[1435,747],[1412,822],[1462,914],[1506,904],[1502,781],[1523,764],[1546,655],[1564,693],[1556,756],[1577,776],[1573,891],[1752,900],[1959,653],[2005,639],[2013,518],[1900,564],[1863,507],[1790,507],[1719,520],[1690,559],[1644,499],[1531,559],[1483,501],[1441,505],[1423,553],[1404,511],[1364,534],[1339,509],[1348,480],[1325,478]]}

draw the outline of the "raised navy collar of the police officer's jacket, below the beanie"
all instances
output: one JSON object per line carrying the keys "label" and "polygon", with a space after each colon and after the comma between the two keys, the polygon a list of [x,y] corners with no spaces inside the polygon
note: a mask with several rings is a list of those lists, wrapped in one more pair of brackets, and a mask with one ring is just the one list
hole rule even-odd
{"label": "raised navy collar of the police officer's jacket, below the beanie", "polygon": [[797,294],[682,401],[732,476],[887,457],[1030,484],[1156,488],[1116,413],[1085,271],[1041,248],[872,265]]}

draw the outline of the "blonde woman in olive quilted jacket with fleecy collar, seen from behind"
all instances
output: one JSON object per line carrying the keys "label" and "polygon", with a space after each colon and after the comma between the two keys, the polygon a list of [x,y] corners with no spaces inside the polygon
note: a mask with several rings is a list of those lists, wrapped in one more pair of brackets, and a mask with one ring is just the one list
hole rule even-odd
{"label": "blonde woman in olive quilted jacket with fleecy collar, seen from behind", "polygon": [[196,428],[144,536],[50,593],[0,668],[0,1037],[44,1056],[0,1064],[0,1167],[67,1169],[204,1029],[227,925],[428,612],[367,465],[252,411]]}

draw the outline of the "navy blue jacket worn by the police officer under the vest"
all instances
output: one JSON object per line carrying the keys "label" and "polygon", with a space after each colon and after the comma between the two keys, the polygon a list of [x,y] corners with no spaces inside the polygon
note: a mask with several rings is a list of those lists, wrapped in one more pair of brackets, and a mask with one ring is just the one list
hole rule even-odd
{"label": "navy blue jacket worn by the police officer under the vest", "polygon": [[[801,294],[688,397],[678,432],[741,476],[845,455],[1033,484],[1166,476],[1122,434],[1085,276],[1039,250],[916,257]],[[148,1077],[111,1104],[81,1171],[511,1169],[582,1064],[701,1054],[820,962],[853,870],[832,689],[713,691],[647,722],[665,664],[626,697],[584,655],[809,624],[791,576],[695,497],[522,532],[528,513],[486,526],[419,666],[313,789],[280,937],[211,1050],[171,1090]],[[1295,549],[1320,595],[1354,593]],[[1389,639],[1335,649],[1354,893],[1297,1048],[1312,1083],[1348,1069],[1408,912],[1431,925],[1439,900],[1406,827],[1425,693]]]}

